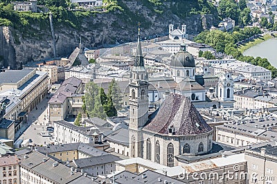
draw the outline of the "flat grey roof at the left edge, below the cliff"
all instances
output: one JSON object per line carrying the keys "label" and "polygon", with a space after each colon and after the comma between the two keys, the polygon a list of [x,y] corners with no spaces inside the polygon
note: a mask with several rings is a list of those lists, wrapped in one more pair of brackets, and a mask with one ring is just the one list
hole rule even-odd
{"label": "flat grey roof at the left edge, below the cliff", "polygon": [[22,70],[6,70],[0,72],[0,84],[2,83],[17,83],[23,77],[31,73],[33,69],[22,69]]}

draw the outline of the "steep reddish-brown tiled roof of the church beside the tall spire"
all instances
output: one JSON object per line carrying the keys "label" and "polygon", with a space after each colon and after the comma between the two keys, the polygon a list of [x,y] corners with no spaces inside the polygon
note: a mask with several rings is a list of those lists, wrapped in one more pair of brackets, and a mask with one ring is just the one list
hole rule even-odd
{"label": "steep reddish-brown tiled roof of the church beside the tall spire", "polygon": [[212,130],[188,98],[173,93],[168,95],[157,116],[143,130],[168,134],[172,125],[177,136],[202,134]]}

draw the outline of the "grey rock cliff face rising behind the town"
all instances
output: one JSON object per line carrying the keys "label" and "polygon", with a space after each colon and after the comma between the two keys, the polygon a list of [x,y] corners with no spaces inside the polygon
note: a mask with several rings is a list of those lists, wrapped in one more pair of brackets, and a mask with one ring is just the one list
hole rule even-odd
{"label": "grey rock cliff face rising behind the town", "polygon": [[[136,39],[137,22],[141,21],[141,34],[143,37],[168,33],[168,24],[187,25],[188,34],[196,34],[206,28],[217,24],[215,15],[193,15],[181,19],[168,11],[162,14],[155,13],[143,6],[140,1],[121,1],[125,11],[116,10],[108,13],[98,13],[86,17],[80,28],[57,24],[54,21],[55,44],[57,56],[65,57],[79,45],[80,36],[84,47],[100,47],[104,44],[115,44],[116,41],[131,42]],[[127,10],[127,11],[126,11]],[[52,37],[50,25],[45,30],[37,25],[31,25],[37,30],[36,36],[26,37],[14,28],[0,27],[0,55],[4,57],[3,66],[19,68],[30,61],[53,57]]]}

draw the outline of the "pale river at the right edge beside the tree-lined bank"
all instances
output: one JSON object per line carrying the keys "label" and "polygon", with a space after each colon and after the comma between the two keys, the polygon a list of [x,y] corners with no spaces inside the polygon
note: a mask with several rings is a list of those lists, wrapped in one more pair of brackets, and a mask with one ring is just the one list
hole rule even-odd
{"label": "pale river at the right edge beside the tree-lined bank", "polygon": [[256,46],[252,46],[245,50],[243,55],[265,57],[269,60],[271,65],[277,68],[277,38],[271,38]]}

